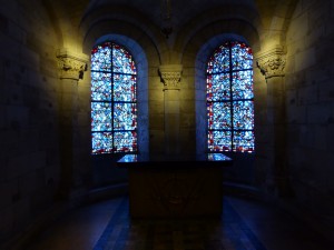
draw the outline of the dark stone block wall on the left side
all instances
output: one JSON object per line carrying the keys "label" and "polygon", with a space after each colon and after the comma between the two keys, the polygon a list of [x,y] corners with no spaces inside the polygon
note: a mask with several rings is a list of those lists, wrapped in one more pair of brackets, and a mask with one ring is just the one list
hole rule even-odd
{"label": "dark stone block wall on the left side", "polygon": [[57,39],[35,1],[0,9],[0,242],[50,207],[59,183]]}

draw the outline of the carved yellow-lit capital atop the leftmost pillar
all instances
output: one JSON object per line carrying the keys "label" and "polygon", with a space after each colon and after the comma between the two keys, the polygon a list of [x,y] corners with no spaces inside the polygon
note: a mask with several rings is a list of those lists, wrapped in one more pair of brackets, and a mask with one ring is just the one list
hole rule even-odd
{"label": "carved yellow-lit capital atop the leftmost pillar", "polygon": [[60,79],[79,80],[84,78],[88,61],[86,54],[76,54],[62,49],[57,52],[57,59]]}

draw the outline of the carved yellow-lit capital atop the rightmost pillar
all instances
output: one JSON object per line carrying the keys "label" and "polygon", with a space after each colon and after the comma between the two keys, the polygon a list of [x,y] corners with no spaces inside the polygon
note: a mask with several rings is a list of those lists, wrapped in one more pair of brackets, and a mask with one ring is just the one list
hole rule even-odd
{"label": "carved yellow-lit capital atop the rightmost pillar", "polygon": [[285,51],[277,46],[264,53],[259,53],[256,59],[256,64],[266,79],[272,77],[285,76]]}

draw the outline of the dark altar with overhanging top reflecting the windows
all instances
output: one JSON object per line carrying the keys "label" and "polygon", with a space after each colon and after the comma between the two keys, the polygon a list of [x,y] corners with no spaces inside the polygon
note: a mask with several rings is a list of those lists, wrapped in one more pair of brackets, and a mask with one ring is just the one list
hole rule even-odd
{"label": "dark altar with overhanging top reflecting the windows", "polygon": [[233,166],[223,153],[126,154],[117,166],[128,169],[132,218],[222,216],[223,170]]}

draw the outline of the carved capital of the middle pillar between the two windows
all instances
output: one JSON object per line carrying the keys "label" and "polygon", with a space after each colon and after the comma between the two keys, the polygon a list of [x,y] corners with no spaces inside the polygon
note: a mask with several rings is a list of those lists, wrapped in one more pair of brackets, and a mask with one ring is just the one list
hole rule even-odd
{"label": "carved capital of the middle pillar between the two windows", "polygon": [[175,89],[179,90],[179,82],[181,78],[181,64],[165,64],[159,67],[161,80],[165,84],[164,90]]}

